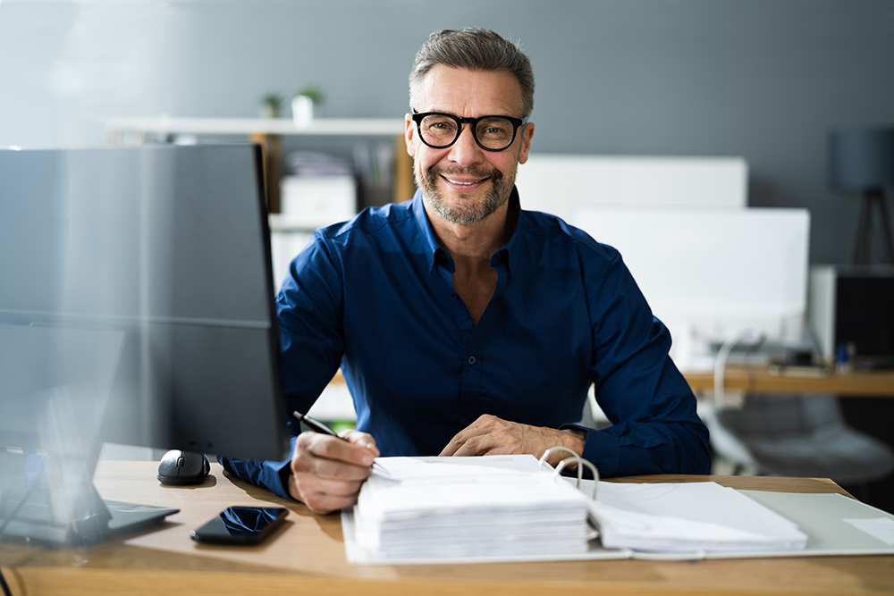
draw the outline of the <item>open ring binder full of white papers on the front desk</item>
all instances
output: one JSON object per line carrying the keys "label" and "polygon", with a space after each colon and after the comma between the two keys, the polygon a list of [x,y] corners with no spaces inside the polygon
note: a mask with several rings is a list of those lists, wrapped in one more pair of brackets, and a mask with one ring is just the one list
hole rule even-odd
{"label": "open ring binder full of white papers on the front desk", "polygon": [[894,516],[839,494],[601,482],[593,501],[530,456],[377,461],[400,480],[374,471],[342,511],[354,564],[894,554]]}

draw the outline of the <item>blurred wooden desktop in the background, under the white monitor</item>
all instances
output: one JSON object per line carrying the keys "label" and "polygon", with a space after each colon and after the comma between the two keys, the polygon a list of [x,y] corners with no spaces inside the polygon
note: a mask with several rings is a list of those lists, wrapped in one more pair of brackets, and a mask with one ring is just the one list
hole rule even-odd
{"label": "blurred wooden desktop in the background, under the white monitor", "polygon": [[[714,374],[684,373],[693,391],[713,391]],[[750,393],[832,393],[841,396],[894,397],[894,371],[832,372],[825,377],[772,376],[766,366],[727,366],[723,386]]]}

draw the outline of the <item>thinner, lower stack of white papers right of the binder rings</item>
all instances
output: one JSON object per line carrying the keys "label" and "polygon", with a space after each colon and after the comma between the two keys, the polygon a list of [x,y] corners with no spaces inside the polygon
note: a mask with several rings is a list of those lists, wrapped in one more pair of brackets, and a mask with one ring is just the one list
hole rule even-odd
{"label": "thinner, lower stack of white papers right of the binder rings", "polygon": [[717,483],[600,483],[590,509],[607,549],[747,553],[807,541],[789,519]]}

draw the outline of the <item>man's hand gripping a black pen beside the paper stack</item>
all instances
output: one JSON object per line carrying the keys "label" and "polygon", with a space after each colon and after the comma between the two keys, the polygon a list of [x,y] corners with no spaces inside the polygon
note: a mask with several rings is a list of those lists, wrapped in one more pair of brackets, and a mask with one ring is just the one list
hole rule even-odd
{"label": "man's hand gripping a black pen beside the paper stack", "polygon": [[344,439],[302,432],[291,457],[289,494],[314,513],[326,514],[357,502],[360,485],[372,473],[379,455],[366,432],[343,431]]}

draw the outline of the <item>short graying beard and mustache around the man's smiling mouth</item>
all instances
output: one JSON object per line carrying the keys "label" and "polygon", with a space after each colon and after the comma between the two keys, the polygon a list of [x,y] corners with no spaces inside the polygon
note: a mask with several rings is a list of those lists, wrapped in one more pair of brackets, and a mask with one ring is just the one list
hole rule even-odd
{"label": "short graying beard and mustache around the man's smiling mouth", "polygon": [[[414,164],[413,172],[416,178],[416,185],[422,189],[422,196],[426,199],[429,206],[443,217],[447,222],[459,223],[460,225],[472,225],[481,222],[490,214],[493,214],[506,201],[515,186],[515,172],[510,172],[509,176],[503,175],[497,169],[482,170],[477,168],[469,169],[447,169],[433,165],[428,170],[423,171],[418,163]],[[491,188],[488,189],[483,201],[451,201],[445,197],[441,189],[438,188],[438,179],[441,176],[450,177],[451,175],[463,175],[477,179],[488,178],[491,182]],[[463,193],[460,191],[460,198],[467,198],[471,193]]]}

